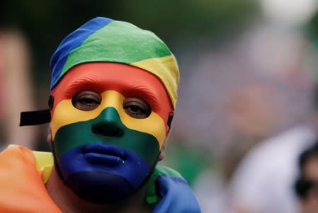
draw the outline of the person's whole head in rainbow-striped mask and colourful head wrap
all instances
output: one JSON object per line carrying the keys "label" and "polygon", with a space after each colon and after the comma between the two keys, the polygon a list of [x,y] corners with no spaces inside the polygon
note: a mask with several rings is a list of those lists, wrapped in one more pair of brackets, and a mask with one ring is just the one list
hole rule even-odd
{"label": "person's whole head in rainbow-striped mask and colourful head wrap", "polygon": [[[179,81],[174,55],[154,33],[93,18],[62,40],[50,67],[52,148],[62,180],[91,202],[132,195],[147,183],[169,131]],[[79,95],[87,91],[100,97],[96,108],[91,95]],[[78,96],[89,110],[76,108]],[[127,113],[130,98],[145,101],[150,114],[132,116],[135,100]]]}

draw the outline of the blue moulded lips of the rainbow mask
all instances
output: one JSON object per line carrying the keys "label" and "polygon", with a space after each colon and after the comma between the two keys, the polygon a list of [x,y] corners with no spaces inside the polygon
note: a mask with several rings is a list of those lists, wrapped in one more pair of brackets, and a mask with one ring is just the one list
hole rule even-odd
{"label": "blue moulded lips of the rainbow mask", "polygon": [[84,146],[82,153],[84,158],[92,163],[125,163],[124,151],[117,146],[102,143],[89,144]]}

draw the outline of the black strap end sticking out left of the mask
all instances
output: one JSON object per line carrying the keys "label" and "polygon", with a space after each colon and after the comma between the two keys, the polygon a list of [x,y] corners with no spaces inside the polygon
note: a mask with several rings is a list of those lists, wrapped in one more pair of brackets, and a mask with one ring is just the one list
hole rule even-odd
{"label": "black strap end sticking out left of the mask", "polygon": [[50,110],[38,110],[22,112],[20,116],[20,126],[42,125],[51,121]]}

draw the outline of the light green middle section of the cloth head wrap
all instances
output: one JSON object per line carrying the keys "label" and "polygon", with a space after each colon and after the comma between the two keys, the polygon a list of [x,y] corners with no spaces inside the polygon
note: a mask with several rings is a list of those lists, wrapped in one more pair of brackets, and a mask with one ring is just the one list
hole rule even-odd
{"label": "light green middle section of the cloth head wrap", "polygon": [[168,47],[154,33],[127,22],[113,21],[69,52],[59,78],[76,64],[84,62],[132,64],[169,55]]}

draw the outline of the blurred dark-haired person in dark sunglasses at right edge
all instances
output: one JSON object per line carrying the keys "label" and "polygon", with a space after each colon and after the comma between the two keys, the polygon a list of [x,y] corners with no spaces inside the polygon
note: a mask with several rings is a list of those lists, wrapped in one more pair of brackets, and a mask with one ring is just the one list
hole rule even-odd
{"label": "blurred dark-haired person in dark sunglasses at right edge", "polygon": [[318,209],[318,141],[300,154],[298,168],[294,190],[300,201],[300,212],[315,213]]}

